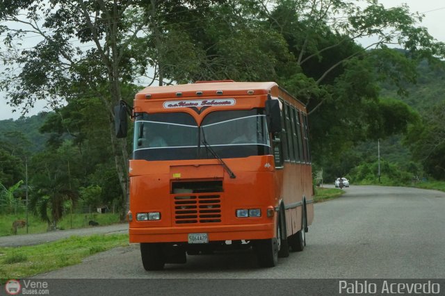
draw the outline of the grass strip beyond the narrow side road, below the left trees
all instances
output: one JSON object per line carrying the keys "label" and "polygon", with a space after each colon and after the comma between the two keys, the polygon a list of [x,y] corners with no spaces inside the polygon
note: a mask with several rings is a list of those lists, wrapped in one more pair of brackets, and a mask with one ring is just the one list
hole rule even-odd
{"label": "grass strip beyond the narrow side road, below the left trees", "polygon": [[[60,230],[65,229],[76,229],[89,227],[88,222],[90,220],[95,220],[99,225],[110,225],[119,222],[118,213],[92,213],[90,214],[70,214],[63,217],[57,224],[57,228]],[[13,234],[13,222],[15,220],[26,220],[26,214],[20,213],[17,215],[0,215],[0,236],[10,236]],[[38,217],[34,215],[29,215],[28,217],[29,233],[44,233],[47,232],[48,225],[46,222],[42,222]],[[25,234],[26,227],[17,229],[17,234]]]}

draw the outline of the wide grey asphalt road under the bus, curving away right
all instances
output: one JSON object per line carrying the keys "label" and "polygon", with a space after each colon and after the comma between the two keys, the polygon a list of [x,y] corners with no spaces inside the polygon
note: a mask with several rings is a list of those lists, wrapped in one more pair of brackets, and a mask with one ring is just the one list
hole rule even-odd
{"label": "wide grey asphalt road under the bus, curving away right", "polygon": [[351,186],[315,204],[304,252],[257,268],[252,252],[188,256],[185,265],[145,272],[138,245],[112,249],[44,278],[445,278],[445,193]]}

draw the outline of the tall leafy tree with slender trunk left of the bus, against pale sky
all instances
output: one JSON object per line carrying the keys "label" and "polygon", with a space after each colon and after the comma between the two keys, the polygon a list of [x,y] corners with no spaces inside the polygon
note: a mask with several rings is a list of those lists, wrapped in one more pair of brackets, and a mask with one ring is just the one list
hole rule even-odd
{"label": "tall leafy tree with slender trunk left of the bus, against pale sky", "polygon": [[[108,112],[108,128],[113,131],[113,106],[121,99],[133,97],[124,92],[124,85],[145,76],[147,66],[163,69],[158,31],[161,24],[157,17],[177,6],[193,10],[212,2],[1,2],[0,19],[19,24],[20,28],[0,26],[8,47],[1,56],[6,68],[0,87],[8,92],[10,104],[22,106],[24,112],[38,99],[56,108],[63,100],[98,97]],[[27,34],[38,35],[42,41],[28,49],[17,49],[20,44],[15,44],[15,40],[23,40]],[[154,46],[144,47],[147,43]],[[163,81],[162,73],[155,72],[160,81]],[[127,140],[117,140],[113,135],[110,139],[122,197],[126,197]],[[128,201],[122,200],[122,208],[127,208]]]}

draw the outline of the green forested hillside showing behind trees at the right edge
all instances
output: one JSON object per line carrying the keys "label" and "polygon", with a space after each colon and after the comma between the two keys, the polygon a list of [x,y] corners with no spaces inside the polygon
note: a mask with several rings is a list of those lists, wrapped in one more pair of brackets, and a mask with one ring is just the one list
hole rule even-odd
{"label": "green forested hillside showing behind trees at the right edge", "polygon": [[395,88],[382,86],[382,95],[385,97],[399,98],[412,108],[425,113],[437,106],[445,99],[445,69],[444,65],[429,65],[425,60],[417,67],[417,79],[415,84],[405,85],[407,96],[397,94]]}

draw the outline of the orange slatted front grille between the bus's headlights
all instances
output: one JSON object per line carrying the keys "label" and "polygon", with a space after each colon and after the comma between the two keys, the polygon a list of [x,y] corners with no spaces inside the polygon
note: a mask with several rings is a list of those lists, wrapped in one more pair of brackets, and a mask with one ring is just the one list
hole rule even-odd
{"label": "orange slatted front grille between the bus's headlights", "polygon": [[175,195],[174,205],[176,224],[221,222],[220,195]]}

